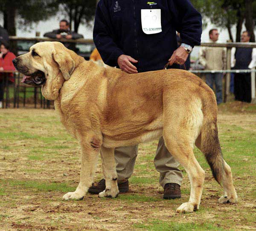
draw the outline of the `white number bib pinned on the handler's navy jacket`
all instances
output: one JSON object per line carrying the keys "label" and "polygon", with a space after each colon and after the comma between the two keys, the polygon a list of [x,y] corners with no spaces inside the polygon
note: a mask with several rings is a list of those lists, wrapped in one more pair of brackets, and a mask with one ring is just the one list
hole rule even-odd
{"label": "white number bib pinned on the handler's navy jacket", "polygon": [[157,34],[162,32],[161,9],[142,9],[141,25],[145,34]]}

